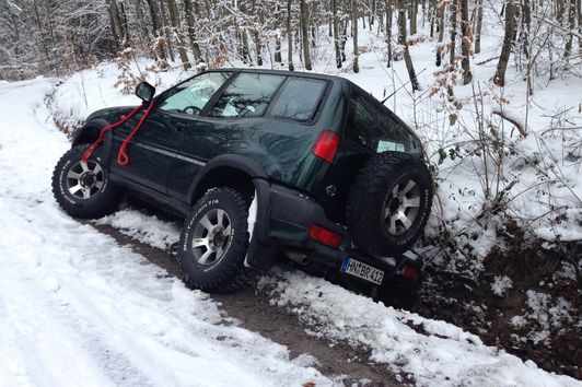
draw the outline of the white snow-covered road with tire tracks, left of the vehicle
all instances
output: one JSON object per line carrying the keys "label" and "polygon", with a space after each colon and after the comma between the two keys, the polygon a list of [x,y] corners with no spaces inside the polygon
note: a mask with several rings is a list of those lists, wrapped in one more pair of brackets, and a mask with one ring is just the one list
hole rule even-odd
{"label": "white snow-covered road with tire tracks, left of the vehicle", "polygon": [[[57,207],[50,176],[69,144],[43,107],[51,87],[0,84],[0,385],[333,385]],[[156,224],[170,241],[172,227]]]}

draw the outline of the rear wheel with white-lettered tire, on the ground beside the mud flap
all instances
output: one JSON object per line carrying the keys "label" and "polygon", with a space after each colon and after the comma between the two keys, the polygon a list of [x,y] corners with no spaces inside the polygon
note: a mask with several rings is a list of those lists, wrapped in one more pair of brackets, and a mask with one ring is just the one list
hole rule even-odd
{"label": "rear wheel with white-lettered tire, on the ground beside the mud flap", "polygon": [[188,288],[230,293],[253,278],[248,250],[248,203],[232,188],[209,190],[194,206],[179,238],[178,263]]}

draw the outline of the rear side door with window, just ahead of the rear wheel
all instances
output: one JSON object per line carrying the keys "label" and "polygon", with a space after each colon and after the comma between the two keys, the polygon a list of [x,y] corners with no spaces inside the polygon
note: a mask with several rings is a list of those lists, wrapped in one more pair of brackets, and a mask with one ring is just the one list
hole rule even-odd
{"label": "rear side door with window, just ahead of the rear wheel", "polygon": [[185,200],[194,176],[221,154],[252,153],[253,125],[260,119],[286,77],[241,72],[181,132],[179,156],[172,162],[168,195]]}

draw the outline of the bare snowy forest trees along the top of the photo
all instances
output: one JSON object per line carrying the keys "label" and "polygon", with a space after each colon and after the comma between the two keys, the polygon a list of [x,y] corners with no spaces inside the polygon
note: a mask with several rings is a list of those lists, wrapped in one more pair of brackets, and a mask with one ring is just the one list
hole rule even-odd
{"label": "bare snowy forest trees along the top of the photo", "polygon": [[[163,69],[243,63],[312,70],[321,34],[334,42],[334,63],[359,72],[358,24],[385,42],[386,66],[404,59],[420,89],[408,47],[426,32],[435,46],[441,84],[472,81],[481,50],[484,9],[504,28],[494,83],[504,84],[513,52],[528,93],[536,78],[551,80],[581,61],[580,0],[2,0],[0,77],[63,75],[104,59],[150,56]],[[351,45],[348,57],[346,45]],[[294,62],[293,52],[299,55]]]}

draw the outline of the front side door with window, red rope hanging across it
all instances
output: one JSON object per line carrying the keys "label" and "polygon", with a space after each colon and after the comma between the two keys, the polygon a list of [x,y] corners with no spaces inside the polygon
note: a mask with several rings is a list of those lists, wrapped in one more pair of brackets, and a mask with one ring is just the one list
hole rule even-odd
{"label": "front side door with window, red rope hanging across it", "polygon": [[[196,117],[229,79],[231,72],[206,72],[164,92],[155,98],[155,107],[143,122],[130,146],[127,166],[113,163],[115,173],[156,191],[167,194],[170,168],[178,157],[181,132],[195,126]],[[132,118],[114,136],[119,149],[141,115]],[[190,160],[194,162],[194,160]]]}

